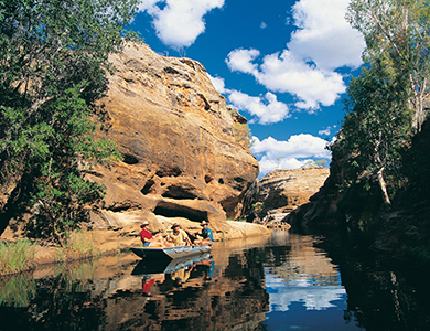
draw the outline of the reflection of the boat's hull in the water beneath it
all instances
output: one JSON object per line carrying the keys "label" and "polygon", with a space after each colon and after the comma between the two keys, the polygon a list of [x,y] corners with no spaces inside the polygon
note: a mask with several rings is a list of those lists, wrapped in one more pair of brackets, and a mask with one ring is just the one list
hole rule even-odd
{"label": "reflection of the boat's hull in the water beneath it", "polygon": [[194,264],[211,258],[211,253],[197,254],[189,257],[180,257],[171,260],[140,260],[131,271],[132,276],[147,277],[153,274],[172,274],[180,269],[189,268]]}

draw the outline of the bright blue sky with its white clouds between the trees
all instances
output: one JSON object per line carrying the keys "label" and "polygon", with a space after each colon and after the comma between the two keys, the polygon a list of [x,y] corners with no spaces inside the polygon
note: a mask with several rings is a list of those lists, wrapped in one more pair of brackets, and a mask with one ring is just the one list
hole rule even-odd
{"label": "bright blue sky with its white clouds between the trees", "polygon": [[157,53],[201,62],[248,119],[261,175],[330,159],[364,50],[348,0],[143,0],[132,23]]}

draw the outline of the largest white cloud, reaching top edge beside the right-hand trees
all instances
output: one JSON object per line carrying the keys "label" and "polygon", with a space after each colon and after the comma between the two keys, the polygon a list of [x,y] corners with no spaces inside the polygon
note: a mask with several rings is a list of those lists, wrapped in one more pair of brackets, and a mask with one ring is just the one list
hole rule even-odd
{"label": "largest white cloud, reaching top edge beside the right-hand trees", "polygon": [[230,71],[255,76],[271,92],[297,97],[295,107],[310,113],[331,106],[346,89],[335,68],[362,64],[362,35],[345,21],[348,0],[301,0],[293,6],[298,30],[287,49],[262,56],[255,49],[232,51],[226,63]]}

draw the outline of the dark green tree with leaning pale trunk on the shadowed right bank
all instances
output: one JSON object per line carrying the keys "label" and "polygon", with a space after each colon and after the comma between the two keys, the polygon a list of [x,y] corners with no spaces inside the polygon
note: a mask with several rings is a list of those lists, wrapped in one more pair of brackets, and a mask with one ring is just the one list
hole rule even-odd
{"label": "dark green tree with leaning pale trunk on the shadowed right bank", "polygon": [[386,178],[401,177],[401,151],[410,138],[411,115],[401,78],[376,63],[363,68],[348,86],[344,124],[330,147],[344,159],[345,189],[376,183],[386,205],[391,203]]}

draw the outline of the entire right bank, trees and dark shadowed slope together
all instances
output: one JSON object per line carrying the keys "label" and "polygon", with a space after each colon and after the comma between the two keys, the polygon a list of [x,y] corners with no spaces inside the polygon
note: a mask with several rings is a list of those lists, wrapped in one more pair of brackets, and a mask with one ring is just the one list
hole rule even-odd
{"label": "entire right bank, trees and dark shadowed slope together", "polygon": [[[348,86],[344,122],[330,146],[332,179],[301,215],[320,207],[325,214],[309,213],[304,223],[323,223],[335,211],[373,247],[428,263],[430,8],[353,0],[347,19],[365,36],[365,66]],[[337,207],[326,210],[334,189]]]}

